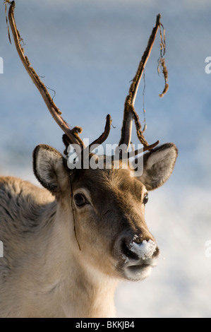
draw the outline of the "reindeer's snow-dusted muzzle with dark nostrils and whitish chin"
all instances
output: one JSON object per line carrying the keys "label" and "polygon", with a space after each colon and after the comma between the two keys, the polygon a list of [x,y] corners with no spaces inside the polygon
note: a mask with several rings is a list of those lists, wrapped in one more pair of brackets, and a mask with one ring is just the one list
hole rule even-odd
{"label": "reindeer's snow-dusted muzzle with dark nostrils and whitish chin", "polygon": [[124,278],[129,280],[142,280],[150,275],[152,268],[157,266],[159,249],[152,239],[143,242],[131,242],[121,239],[119,242],[119,263],[116,268]]}

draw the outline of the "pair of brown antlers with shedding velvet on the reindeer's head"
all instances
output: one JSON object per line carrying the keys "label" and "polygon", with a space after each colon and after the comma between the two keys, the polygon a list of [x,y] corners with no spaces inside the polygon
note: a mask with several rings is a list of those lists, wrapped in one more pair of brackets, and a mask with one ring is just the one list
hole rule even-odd
{"label": "pair of brown antlers with shedding velvet on the reindeer's head", "polygon": [[[24,49],[20,45],[20,42],[23,40],[20,37],[20,33],[18,32],[18,30],[16,28],[16,21],[14,18],[14,8],[16,6],[15,1],[10,2],[8,0],[5,0],[4,3],[11,4],[9,11],[8,11],[8,21],[11,26],[13,40],[15,42],[16,49],[18,51],[20,60],[22,61],[23,66],[25,66],[25,69],[28,72],[30,78],[32,79],[32,82],[35,83],[35,86],[40,91],[40,94],[42,95],[42,98],[43,98],[45,104],[47,105],[49,112],[52,114],[52,117],[54,118],[56,123],[59,124],[60,128],[64,131],[65,134],[63,136],[63,141],[64,141],[64,144],[66,145],[66,148],[69,144],[77,144],[83,150],[85,148],[85,146],[83,144],[83,141],[80,139],[80,137],[78,135],[82,132],[82,128],[80,128],[79,126],[75,126],[75,127],[73,127],[73,129],[69,128],[66,121],[61,117],[61,111],[59,110],[58,107],[56,107],[51,95],[49,94],[49,92],[47,90],[47,87],[44,85],[44,83],[42,83],[42,81],[40,80],[40,77],[37,75],[35,69],[33,69],[32,66],[30,65],[30,61],[28,60],[28,57],[26,57],[24,54]],[[160,14],[157,15],[155,28],[153,28],[153,30],[152,30],[150,39],[148,40],[147,47],[145,49],[143,57],[138,66],[138,71],[135,74],[135,77],[133,78],[131,87],[129,89],[129,94],[126,97],[126,101],[125,101],[125,105],[124,105],[124,112],[123,112],[123,125],[122,125],[122,129],[121,129],[121,139],[119,141],[119,146],[121,144],[126,144],[126,146],[128,147],[129,144],[131,143],[131,131],[132,131],[133,119],[135,121],[136,134],[140,140],[140,143],[142,143],[144,146],[143,151],[150,150],[150,149],[154,148],[155,146],[157,146],[157,144],[159,143],[159,141],[157,141],[156,143],[153,143],[150,146],[148,145],[147,141],[145,140],[145,138],[143,136],[143,131],[141,130],[141,124],[139,121],[138,114],[135,112],[134,104],[135,104],[135,97],[136,97],[137,91],[138,91],[138,85],[140,83],[141,77],[143,76],[143,71],[145,69],[147,60],[150,57],[150,52],[151,52],[152,46],[155,42],[157,30],[158,30],[158,28],[160,29],[160,26],[162,25],[160,23],[160,18],[161,18],[161,15]],[[8,21],[6,18],[6,23]],[[162,26],[162,28],[163,28],[163,26]],[[165,38],[164,38],[164,40],[162,40],[161,30],[160,30],[160,34],[161,34],[161,56],[159,58],[159,66],[162,67],[162,69],[163,69],[162,72],[164,73],[164,78],[165,78],[165,88],[162,93],[162,95],[164,95],[164,93],[167,91],[167,88],[168,88],[168,85],[167,85],[168,73],[167,73],[167,69],[166,69],[166,66],[164,63],[164,58],[163,58],[163,55],[165,52]],[[9,35],[9,32],[8,32],[8,35]],[[9,39],[10,39],[10,37],[9,37]],[[162,96],[162,95],[160,95],[160,96]],[[108,114],[104,132],[102,133],[102,135],[100,135],[99,138],[97,138],[94,142],[92,142],[92,144],[90,144],[90,146],[88,147],[90,149],[90,152],[92,151],[92,146],[96,147],[96,144],[100,145],[107,139],[107,137],[109,136],[110,129],[111,129],[111,116]],[[135,150],[133,152],[134,155],[137,155],[138,153],[140,153],[140,150]]]}

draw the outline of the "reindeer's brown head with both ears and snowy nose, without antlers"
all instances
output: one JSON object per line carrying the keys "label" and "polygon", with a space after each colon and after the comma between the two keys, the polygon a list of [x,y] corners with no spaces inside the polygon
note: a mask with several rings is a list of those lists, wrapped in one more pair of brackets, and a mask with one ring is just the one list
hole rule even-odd
{"label": "reindeer's brown head with both ears and snowy nose, without antlers", "polygon": [[85,263],[109,275],[140,280],[159,254],[145,223],[148,191],[167,181],[176,155],[172,143],[145,153],[143,174],[133,177],[130,168],[70,171],[59,152],[41,145],[34,152],[34,170],[41,184],[68,206]]}

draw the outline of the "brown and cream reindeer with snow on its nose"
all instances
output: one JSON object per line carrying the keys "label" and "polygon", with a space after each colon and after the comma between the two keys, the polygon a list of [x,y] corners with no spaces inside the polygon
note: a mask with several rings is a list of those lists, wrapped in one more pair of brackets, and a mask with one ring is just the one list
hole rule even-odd
{"label": "brown and cream reindeer with snow on its nose", "polygon": [[[80,128],[68,128],[23,54],[14,6],[12,1],[8,19],[20,59],[64,130],[66,150],[76,144],[83,153]],[[154,37],[158,27],[159,19],[152,30]],[[148,46],[152,47],[152,38]],[[143,70],[146,57],[142,60]],[[136,78],[140,76],[139,72]],[[119,145],[127,147],[131,123],[137,120],[133,107],[137,85],[133,84],[125,104]],[[107,116],[95,144],[105,141],[110,124]],[[140,129],[138,120],[135,124]],[[140,130],[138,134],[143,138]],[[156,145],[145,142],[145,153],[138,157],[143,158],[143,174],[138,177],[131,167],[115,168],[114,160],[109,169],[70,170],[66,154],[39,145],[33,153],[33,169],[43,189],[14,177],[0,178],[1,317],[115,316],[114,292],[119,281],[143,280],[157,265],[159,249],[145,223],[145,204],[148,191],[169,179],[177,148],[174,143]],[[90,146],[88,158],[93,155]],[[120,160],[121,165],[128,162],[121,153]]]}

